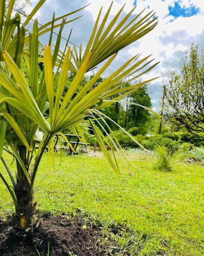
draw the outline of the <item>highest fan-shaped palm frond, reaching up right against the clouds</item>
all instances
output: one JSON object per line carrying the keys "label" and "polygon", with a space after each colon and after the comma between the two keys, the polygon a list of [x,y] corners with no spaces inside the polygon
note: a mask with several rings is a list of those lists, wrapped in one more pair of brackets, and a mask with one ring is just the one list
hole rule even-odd
{"label": "highest fan-shaped palm frond, reaching up right against the clouds", "polygon": [[[77,70],[81,66],[84,58],[86,58],[87,54],[89,54],[90,50],[92,50],[92,56],[90,57],[89,63],[87,65],[87,71],[95,68],[98,64],[116,52],[145,36],[145,34],[149,33],[158,23],[157,17],[155,17],[155,12],[153,13],[153,11],[142,17],[143,11],[145,9],[135,15],[134,18],[132,18],[132,13],[136,8],[134,7],[129,13],[127,13],[126,16],[124,16],[123,19],[121,19],[121,21],[118,22],[117,25],[115,25],[116,22],[120,20],[124,6],[119,10],[114,18],[110,20],[112,4],[113,2],[109,6],[108,11],[106,12],[100,24],[102,13],[101,7],[89,42],[87,43],[84,52],[81,44],[79,51],[77,51],[77,48],[74,45],[72,58]],[[108,26],[105,28],[106,24],[108,24]],[[62,52],[60,52],[59,60],[62,58],[63,55]],[[57,62],[58,64],[59,60]]]}

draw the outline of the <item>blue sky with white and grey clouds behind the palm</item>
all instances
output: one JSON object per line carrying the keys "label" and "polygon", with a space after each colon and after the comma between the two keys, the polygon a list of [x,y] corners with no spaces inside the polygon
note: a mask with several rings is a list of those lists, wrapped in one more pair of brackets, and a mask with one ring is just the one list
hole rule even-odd
{"label": "blue sky with white and grey clouds behind the palm", "polygon": [[[33,6],[37,2],[38,0],[32,0]],[[55,16],[61,16],[90,2],[89,6],[79,12],[80,15],[83,14],[83,17],[68,24],[63,31],[63,36],[67,38],[70,29],[73,28],[70,41],[76,45],[82,43],[85,48],[99,9],[103,5],[102,15],[104,15],[111,0],[47,0],[37,13],[38,22],[44,24],[50,21],[53,11],[55,11]],[[160,64],[148,75],[144,75],[142,77],[144,80],[160,76],[161,73],[172,69],[179,69],[180,60],[192,42],[199,44],[200,50],[204,49],[204,0],[115,0],[111,15],[115,15],[124,3],[126,5],[122,16],[136,5],[132,15],[139,13],[145,7],[144,15],[153,9],[157,12],[159,23],[149,34],[119,52],[117,59],[114,60],[114,66],[119,67],[127,58],[138,53],[142,53],[142,56],[153,54]],[[46,44],[48,35],[42,36],[40,40]],[[62,46],[65,43],[65,40],[62,40]],[[113,70],[114,68],[111,67],[107,72]],[[148,84],[154,109],[159,105],[161,84],[161,78]]]}

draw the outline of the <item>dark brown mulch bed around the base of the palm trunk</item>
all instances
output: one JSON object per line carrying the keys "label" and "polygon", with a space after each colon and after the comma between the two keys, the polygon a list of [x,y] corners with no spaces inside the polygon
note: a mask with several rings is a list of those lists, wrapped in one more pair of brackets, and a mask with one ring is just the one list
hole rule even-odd
{"label": "dark brown mulch bed around the base of the palm trunk", "polygon": [[104,255],[96,252],[95,246],[101,230],[98,228],[85,228],[81,220],[68,219],[64,216],[42,218],[42,224],[34,229],[34,233],[23,238],[14,235],[11,220],[0,221],[0,255],[47,255],[48,242],[49,255]]}

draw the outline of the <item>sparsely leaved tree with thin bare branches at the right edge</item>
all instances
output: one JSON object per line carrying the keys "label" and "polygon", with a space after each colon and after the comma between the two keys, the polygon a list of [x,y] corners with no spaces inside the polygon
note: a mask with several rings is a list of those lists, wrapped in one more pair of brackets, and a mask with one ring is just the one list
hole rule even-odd
{"label": "sparsely leaved tree with thin bare branches at the right edge", "polygon": [[165,115],[174,130],[185,127],[188,132],[204,137],[204,51],[198,45],[182,58],[181,72],[168,74]]}

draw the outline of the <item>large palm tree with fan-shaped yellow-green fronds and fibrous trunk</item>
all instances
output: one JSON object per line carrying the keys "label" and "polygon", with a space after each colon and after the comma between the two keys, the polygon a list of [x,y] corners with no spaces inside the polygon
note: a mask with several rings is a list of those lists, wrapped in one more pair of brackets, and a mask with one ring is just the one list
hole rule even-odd
{"label": "large palm tree with fan-shaped yellow-green fronds and fibrous trunk", "polygon": [[[59,18],[55,18],[53,15],[52,21],[39,28],[38,22],[35,20],[33,31],[28,34],[25,26],[44,1],[39,1],[23,24],[21,24],[18,14],[11,18],[14,0],[10,0],[9,6],[7,6],[6,17],[4,17],[5,0],[0,2],[0,157],[8,174],[5,177],[0,173],[0,178],[6,185],[15,205],[13,225],[22,230],[32,224],[36,207],[36,202],[33,201],[35,177],[46,147],[49,146],[50,150],[54,151],[53,136],[56,133],[61,133],[66,139],[62,130],[68,129],[86,143],[84,132],[87,127],[91,127],[114,171],[117,174],[120,173],[113,149],[120,154],[128,170],[127,162],[129,160],[105,121],[109,117],[106,117],[100,110],[114,102],[120,102],[123,97],[155,78],[126,88],[119,88],[120,83],[118,85],[118,82],[122,79],[126,79],[128,82],[133,81],[158,64],[150,66],[149,64],[153,61],[148,60],[150,56],[139,60],[140,55],[138,54],[127,60],[114,73],[90,90],[99,76],[117,57],[118,50],[135,42],[157,25],[156,18],[149,21],[154,13],[150,12],[139,19],[141,12],[126,24],[135,9],[133,8],[115,25],[123,10],[122,7],[105,28],[112,7],[111,3],[101,25],[99,25],[99,20],[102,9],[100,10],[93,33],[82,54],[81,45],[79,51],[75,46],[73,49],[68,46],[69,37],[64,51],[61,51],[59,46],[64,25],[75,20],[66,21],[66,17],[83,8]],[[57,21],[61,22],[55,25]],[[60,27],[59,35],[55,46],[51,49],[53,30],[56,27]],[[44,70],[39,78],[38,37],[48,31],[50,31],[49,43],[44,47],[43,58],[40,58],[40,61],[44,63]],[[26,50],[28,48],[25,49],[25,45],[29,45],[29,51]],[[28,79],[20,69],[22,57],[27,60]],[[106,61],[98,69],[98,72],[77,92],[85,73],[104,60]],[[69,71],[75,72],[75,76],[63,97],[62,93],[67,86],[66,80]],[[58,75],[59,72],[60,75]],[[130,75],[133,78],[128,78]],[[110,96],[111,100],[109,100]],[[49,121],[44,115],[48,108]],[[108,135],[108,139],[103,135],[105,129],[99,119],[112,135]],[[35,134],[39,128],[44,130],[44,135],[36,151]],[[105,144],[111,147],[112,154],[106,150]],[[15,176],[2,157],[3,150],[11,154],[16,161]],[[8,178],[10,178],[9,182]],[[12,185],[10,186],[10,184]]]}

